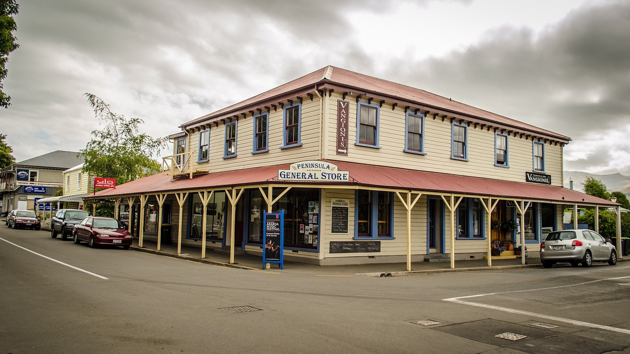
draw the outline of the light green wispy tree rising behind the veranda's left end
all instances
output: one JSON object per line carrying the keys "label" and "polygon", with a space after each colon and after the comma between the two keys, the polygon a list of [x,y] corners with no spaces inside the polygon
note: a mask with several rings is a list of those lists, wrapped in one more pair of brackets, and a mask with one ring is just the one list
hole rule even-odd
{"label": "light green wispy tree rising behind the veranda's left end", "polygon": [[80,150],[85,159],[84,173],[115,178],[116,184],[122,185],[161,171],[161,164],[154,160],[154,156],[157,157],[166,146],[167,137],[153,139],[139,134],[141,119],[127,119],[113,113],[110,105],[94,94],[86,93],[85,96],[96,117],[107,125],[103,130],[94,130],[85,149]]}

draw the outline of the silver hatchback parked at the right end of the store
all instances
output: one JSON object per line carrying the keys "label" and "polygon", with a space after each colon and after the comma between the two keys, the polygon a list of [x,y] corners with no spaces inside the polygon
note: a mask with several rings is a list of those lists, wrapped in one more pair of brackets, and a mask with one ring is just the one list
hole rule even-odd
{"label": "silver hatchback parked at the right end of the store", "polygon": [[617,249],[610,239],[591,230],[549,232],[541,243],[541,263],[551,268],[554,263],[568,262],[572,266],[591,266],[593,262],[617,264]]}

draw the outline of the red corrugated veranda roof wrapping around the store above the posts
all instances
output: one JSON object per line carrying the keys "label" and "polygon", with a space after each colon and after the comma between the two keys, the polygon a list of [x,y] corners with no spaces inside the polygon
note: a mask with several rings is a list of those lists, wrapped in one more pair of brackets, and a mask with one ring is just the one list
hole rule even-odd
{"label": "red corrugated veranda roof wrapping around the store above the posts", "polygon": [[[323,161],[336,164],[340,171],[350,171],[350,183],[341,183],[350,186],[362,185],[401,190],[547,200],[578,204],[617,205],[617,203],[612,203],[610,200],[593,197],[592,195],[561,186],[502,181],[491,178],[459,176],[457,174],[416,171],[413,169],[347,163],[343,161]],[[219,187],[229,188],[231,186],[255,185],[261,183],[290,183],[277,181],[278,169],[289,169],[289,164],[209,173],[195,176],[195,178],[192,179],[180,178],[174,181],[171,181],[170,176],[159,173],[125,183],[116,188],[99,191],[96,193],[95,197],[122,197],[139,193],[164,193]],[[302,184],[304,184],[304,186],[321,186],[329,185],[330,183],[302,182]],[[338,184],[340,183],[336,183],[336,185]],[[91,196],[87,195],[85,198],[89,197]]]}

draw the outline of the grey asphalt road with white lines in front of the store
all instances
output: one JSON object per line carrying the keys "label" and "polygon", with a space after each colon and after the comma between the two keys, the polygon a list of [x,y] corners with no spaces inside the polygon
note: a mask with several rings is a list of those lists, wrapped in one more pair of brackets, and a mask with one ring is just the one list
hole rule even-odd
{"label": "grey asphalt road with white lines in front of the store", "polygon": [[[0,297],[0,353],[630,353],[630,262],[318,276],[1,223]],[[506,332],[526,337],[496,337]]]}

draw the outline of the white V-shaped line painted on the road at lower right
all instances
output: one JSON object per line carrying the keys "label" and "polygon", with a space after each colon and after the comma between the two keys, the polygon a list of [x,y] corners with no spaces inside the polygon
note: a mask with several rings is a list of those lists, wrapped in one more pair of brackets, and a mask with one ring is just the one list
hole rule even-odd
{"label": "white V-shaped line painted on the road at lower right", "polygon": [[630,329],[622,329],[622,328],[616,328],[616,327],[611,327],[611,326],[604,326],[602,324],[595,324],[595,323],[588,323],[588,322],[583,322],[583,321],[576,321],[576,320],[573,320],[573,319],[568,319],[568,318],[563,318],[563,317],[556,317],[556,316],[549,316],[549,315],[546,315],[546,314],[538,314],[536,312],[529,312],[529,311],[522,311],[522,310],[517,310],[517,309],[510,309],[509,307],[501,307],[501,306],[495,306],[495,305],[481,304],[479,302],[470,302],[470,301],[460,300],[460,299],[470,299],[471,297],[482,297],[482,296],[486,296],[486,295],[512,294],[512,293],[516,293],[516,292],[530,292],[530,291],[537,291],[537,290],[548,290],[548,289],[557,289],[557,288],[564,288],[564,287],[575,287],[577,285],[584,285],[584,284],[588,284],[588,283],[603,282],[604,280],[618,280],[618,279],[626,279],[626,278],[630,278],[630,277],[598,279],[598,280],[592,280],[590,282],[576,283],[576,284],[573,284],[573,285],[559,285],[558,287],[537,288],[537,289],[528,289],[528,290],[516,290],[516,291],[508,291],[508,292],[493,292],[493,293],[489,293],[489,294],[478,294],[478,295],[469,295],[469,296],[460,296],[460,297],[450,297],[449,299],[442,299],[442,300],[449,301],[449,302],[455,302],[457,304],[471,305],[471,306],[477,306],[477,307],[484,307],[485,309],[493,309],[493,310],[498,310],[498,311],[510,312],[512,314],[522,314],[522,315],[527,315],[527,316],[540,317],[540,318],[544,318],[544,319],[551,319],[552,321],[569,323],[569,324],[573,324],[575,326],[583,326],[583,327],[588,327],[588,328],[599,328],[599,329],[605,329],[607,331],[613,331],[613,332],[619,332],[619,333],[624,333],[624,334],[630,334]]}

